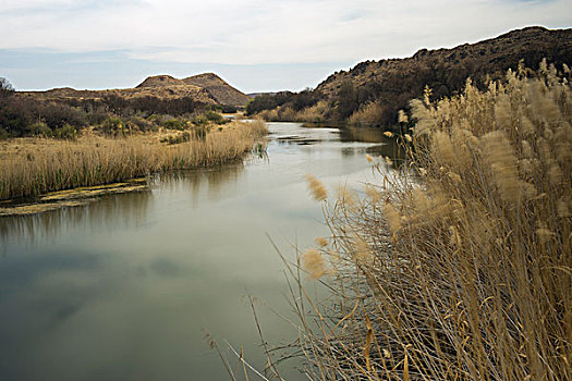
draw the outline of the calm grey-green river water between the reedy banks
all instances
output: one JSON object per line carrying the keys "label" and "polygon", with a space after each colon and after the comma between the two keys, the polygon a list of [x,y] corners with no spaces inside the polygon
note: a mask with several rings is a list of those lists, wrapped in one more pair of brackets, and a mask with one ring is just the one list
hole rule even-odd
{"label": "calm grey-green river water between the reedy banks", "polygon": [[[375,181],[366,153],[395,153],[378,133],[269,128],[267,156],[244,165],[0,218],[0,380],[228,379],[206,332],[233,366],[227,342],[264,369],[250,295],[268,342],[296,337],[271,311],[292,316],[269,237],[294,259],[329,234],[304,175],[360,187]],[[299,366],[282,371],[304,379]]]}

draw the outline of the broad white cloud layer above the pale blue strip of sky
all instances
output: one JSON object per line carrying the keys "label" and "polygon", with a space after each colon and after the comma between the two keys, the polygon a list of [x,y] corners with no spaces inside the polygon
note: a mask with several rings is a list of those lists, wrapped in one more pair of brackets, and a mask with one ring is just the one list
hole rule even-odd
{"label": "broad white cloud layer above the pale blue strip of sky", "polygon": [[[278,63],[395,57],[571,24],[569,0],[9,0],[0,49],[129,50],[174,62]],[[23,27],[25,25],[25,27]]]}

